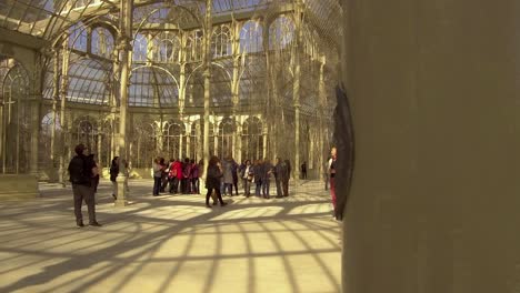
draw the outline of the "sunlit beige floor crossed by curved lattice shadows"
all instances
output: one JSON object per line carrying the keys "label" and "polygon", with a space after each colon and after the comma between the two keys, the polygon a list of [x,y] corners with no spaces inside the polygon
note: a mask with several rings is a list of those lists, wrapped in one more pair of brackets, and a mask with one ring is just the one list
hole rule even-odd
{"label": "sunlit beige floor crossed by curved lattice shadows", "polygon": [[213,209],[202,195],[153,198],[151,184],[131,181],[133,203],[114,208],[101,182],[102,228],[76,228],[70,188],[0,202],[0,292],[340,291],[339,224],[318,182]]}

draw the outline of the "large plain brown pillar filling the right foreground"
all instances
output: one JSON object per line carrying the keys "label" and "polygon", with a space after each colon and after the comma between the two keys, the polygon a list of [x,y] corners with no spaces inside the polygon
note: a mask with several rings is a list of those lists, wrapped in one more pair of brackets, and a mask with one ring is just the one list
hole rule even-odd
{"label": "large plain brown pillar filling the right foreground", "polygon": [[343,292],[518,292],[519,2],[343,2]]}

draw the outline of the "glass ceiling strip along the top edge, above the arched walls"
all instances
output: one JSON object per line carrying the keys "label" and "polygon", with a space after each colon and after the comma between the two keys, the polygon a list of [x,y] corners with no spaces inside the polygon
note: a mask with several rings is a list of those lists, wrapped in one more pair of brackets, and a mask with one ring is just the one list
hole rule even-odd
{"label": "glass ceiling strip along the top edge, above the arched walls", "polygon": [[[269,6],[293,1],[274,0],[213,0],[213,14],[258,11]],[[204,0],[134,0],[136,7],[152,3],[183,6],[204,13]],[[309,19],[320,33],[336,36],[338,30],[339,0],[302,0]],[[19,31],[46,40],[52,40],[66,28],[91,17],[104,17],[119,12],[119,0],[1,0],[0,28]]]}

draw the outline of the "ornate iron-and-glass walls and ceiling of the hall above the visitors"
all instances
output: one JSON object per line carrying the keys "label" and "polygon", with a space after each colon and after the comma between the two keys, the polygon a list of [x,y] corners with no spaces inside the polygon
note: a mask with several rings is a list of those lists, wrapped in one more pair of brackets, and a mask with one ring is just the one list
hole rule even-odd
{"label": "ornate iron-and-glass walls and ceiling of the hall above the visitors", "polygon": [[216,154],[318,178],[341,18],[338,0],[1,1],[1,172],[64,182],[84,143],[136,176]]}

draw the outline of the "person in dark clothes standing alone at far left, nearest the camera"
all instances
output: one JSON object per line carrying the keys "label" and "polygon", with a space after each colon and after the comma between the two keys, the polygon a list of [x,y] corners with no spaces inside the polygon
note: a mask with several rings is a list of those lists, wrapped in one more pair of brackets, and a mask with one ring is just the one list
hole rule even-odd
{"label": "person in dark clothes standing alone at far left, nearest the camera", "polygon": [[101,224],[96,221],[94,192],[91,186],[92,179],[97,175],[94,174],[94,170],[97,169],[94,161],[84,155],[86,150],[82,143],[76,145],[76,155],[70,161],[68,168],[74,198],[76,224],[79,228],[84,226],[83,215],[81,213],[81,205],[84,201],[89,211],[89,224],[91,226],[101,226]]}

